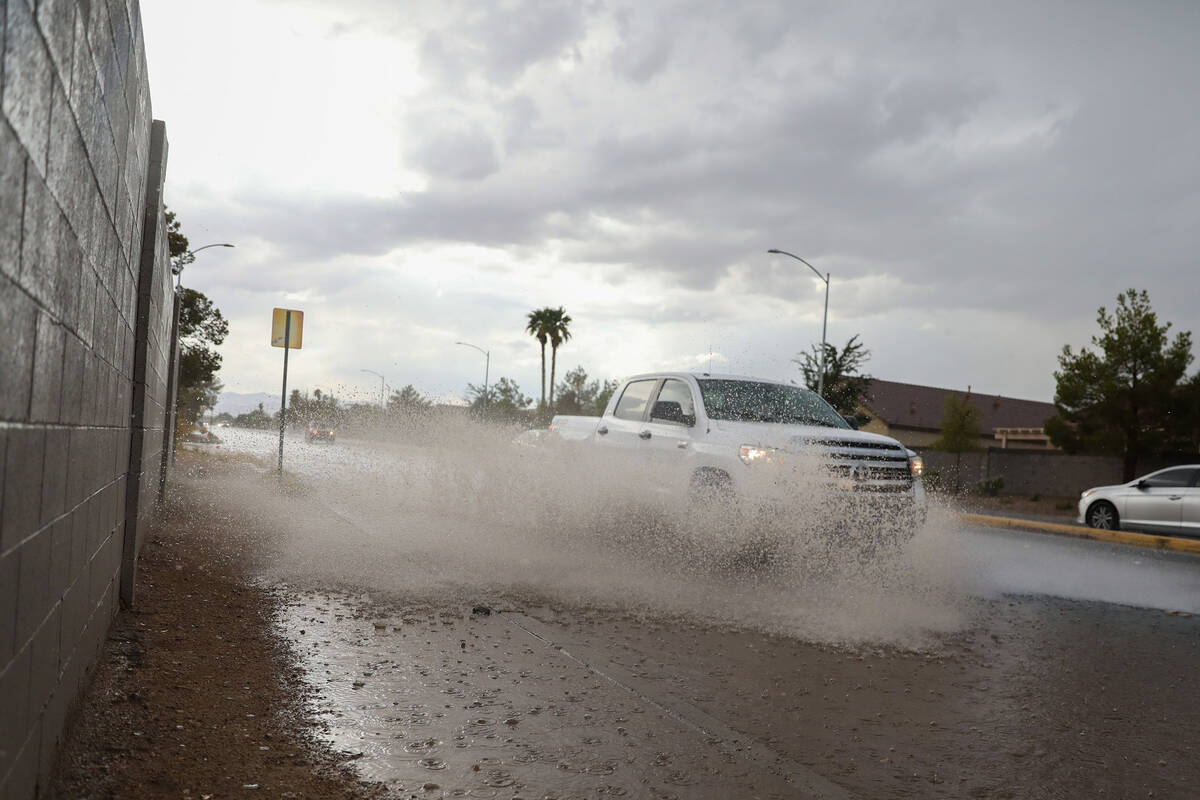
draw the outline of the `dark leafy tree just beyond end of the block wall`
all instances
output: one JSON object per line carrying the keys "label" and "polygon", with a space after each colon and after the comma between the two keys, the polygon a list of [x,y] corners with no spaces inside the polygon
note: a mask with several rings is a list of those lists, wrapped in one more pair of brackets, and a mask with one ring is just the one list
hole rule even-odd
{"label": "dark leafy tree just beyond end of the block wall", "polygon": [[215,347],[229,335],[229,323],[204,294],[179,290],[179,416],[194,422],[204,409],[216,405],[221,381],[221,354]]}

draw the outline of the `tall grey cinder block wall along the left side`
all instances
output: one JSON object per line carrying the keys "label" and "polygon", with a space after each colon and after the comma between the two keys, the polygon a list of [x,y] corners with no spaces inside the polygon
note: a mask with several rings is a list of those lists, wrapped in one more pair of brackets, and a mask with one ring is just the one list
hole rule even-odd
{"label": "tall grey cinder block wall along the left side", "polygon": [[0,0],[0,798],[44,786],[132,601],[173,405],[164,164],[137,0]]}

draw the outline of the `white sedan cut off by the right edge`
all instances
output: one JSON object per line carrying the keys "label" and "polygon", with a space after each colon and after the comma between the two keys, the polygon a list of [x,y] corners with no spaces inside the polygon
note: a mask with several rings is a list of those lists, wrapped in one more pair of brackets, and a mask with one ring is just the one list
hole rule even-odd
{"label": "white sedan cut off by the right edge", "polygon": [[1200,536],[1200,464],[1169,467],[1079,498],[1078,522],[1104,530]]}

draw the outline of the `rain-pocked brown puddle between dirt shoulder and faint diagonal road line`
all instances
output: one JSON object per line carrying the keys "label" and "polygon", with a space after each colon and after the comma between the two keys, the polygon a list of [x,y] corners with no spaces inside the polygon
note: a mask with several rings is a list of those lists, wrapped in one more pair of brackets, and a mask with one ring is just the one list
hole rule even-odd
{"label": "rain-pocked brown puddle between dirt shoulder and faint diagonal road line", "polygon": [[788,796],[503,614],[305,594],[277,625],[334,750],[406,796]]}

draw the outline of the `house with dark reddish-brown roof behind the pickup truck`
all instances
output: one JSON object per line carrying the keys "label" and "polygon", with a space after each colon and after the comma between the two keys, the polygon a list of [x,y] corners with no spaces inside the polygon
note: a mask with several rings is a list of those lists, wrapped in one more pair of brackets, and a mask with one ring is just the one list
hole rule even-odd
{"label": "house with dark reddish-brown roof behind the pickup truck", "polygon": [[[889,435],[907,447],[928,447],[941,434],[946,398],[965,393],[872,379],[860,407],[871,421],[862,429]],[[1045,433],[1045,421],[1055,415],[1054,403],[978,392],[970,392],[968,402],[979,409],[980,447],[1054,449]]]}

